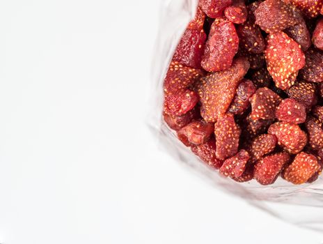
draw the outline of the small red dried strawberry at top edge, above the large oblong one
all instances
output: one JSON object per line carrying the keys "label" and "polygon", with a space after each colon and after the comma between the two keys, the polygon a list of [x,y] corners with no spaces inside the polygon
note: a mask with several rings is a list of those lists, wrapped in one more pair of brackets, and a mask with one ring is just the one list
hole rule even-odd
{"label": "small red dried strawberry at top edge, above the large oblong one", "polygon": [[248,12],[246,10],[246,4],[244,0],[233,0],[233,5],[228,6],[224,10],[224,15],[226,15],[227,19],[230,22],[235,24],[242,24],[246,21],[246,17],[248,16]]}

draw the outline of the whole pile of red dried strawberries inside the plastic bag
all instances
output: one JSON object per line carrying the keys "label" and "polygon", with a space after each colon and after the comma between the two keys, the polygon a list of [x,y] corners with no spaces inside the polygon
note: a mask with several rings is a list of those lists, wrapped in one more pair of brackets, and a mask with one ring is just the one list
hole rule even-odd
{"label": "whole pile of red dried strawberries inside the plastic bag", "polygon": [[164,80],[164,121],[237,182],[323,169],[323,0],[200,0]]}

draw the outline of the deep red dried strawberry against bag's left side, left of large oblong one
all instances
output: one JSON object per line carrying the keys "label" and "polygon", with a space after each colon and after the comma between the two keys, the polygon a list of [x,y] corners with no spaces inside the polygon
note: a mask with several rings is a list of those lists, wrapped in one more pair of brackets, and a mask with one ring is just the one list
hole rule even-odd
{"label": "deep red dried strawberry against bag's left side, left of large oblong one", "polygon": [[191,68],[201,68],[205,40],[206,34],[203,30],[187,29],[178,43],[173,61]]}

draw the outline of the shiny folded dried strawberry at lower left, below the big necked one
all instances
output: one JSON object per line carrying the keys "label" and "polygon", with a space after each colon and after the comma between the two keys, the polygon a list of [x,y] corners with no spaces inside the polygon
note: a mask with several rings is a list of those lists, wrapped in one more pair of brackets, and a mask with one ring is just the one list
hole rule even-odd
{"label": "shiny folded dried strawberry at lower left, below the big necked one", "polygon": [[193,121],[178,130],[178,139],[186,146],[191,144],[199,145],[207,142],[213,132],[213,123],[206,123],[203,120]]}

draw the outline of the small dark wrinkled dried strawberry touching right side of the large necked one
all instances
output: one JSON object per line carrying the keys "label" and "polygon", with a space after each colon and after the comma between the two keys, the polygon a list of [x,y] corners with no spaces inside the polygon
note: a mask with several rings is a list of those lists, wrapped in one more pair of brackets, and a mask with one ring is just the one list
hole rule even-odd
{"label": "small dark wrinkled dried strawberry touching right side of the large necked one", "polygon": [[253,82],[249,79],[242,79],[228,112],[231,114],[242,114],[245,112],[250,105],[249,98],[253,96],[253,93],[255,93]]}

